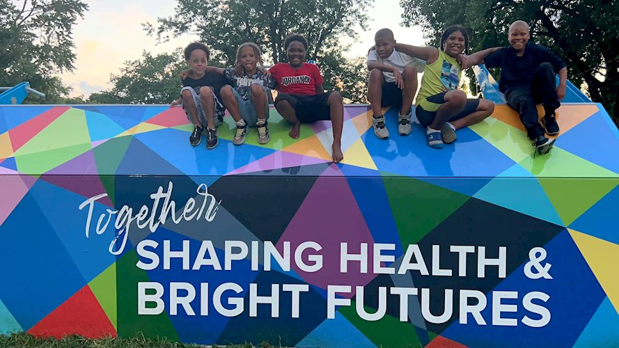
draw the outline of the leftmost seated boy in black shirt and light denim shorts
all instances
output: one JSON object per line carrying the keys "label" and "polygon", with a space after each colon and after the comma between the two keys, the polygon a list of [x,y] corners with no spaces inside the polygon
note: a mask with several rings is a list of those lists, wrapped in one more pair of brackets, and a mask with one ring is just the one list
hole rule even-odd
{"label": "leftmost seated boy in black shirt and light denim shorts", "polygon": [[182,104],[187,118],[194,124],[194,132],[189,136],[189,143],[196,146],[202,140],[204,124],[207,125],[206,148],[217,146],[217,125],[224,119],[224,105],[219,102],[219,90],[233,81],[217,72],[206,72],[210,50],[206,45],[192,42],[185,48],[185,60],[191,68],[189,75],[182,79],[180,98],[172,106]]}

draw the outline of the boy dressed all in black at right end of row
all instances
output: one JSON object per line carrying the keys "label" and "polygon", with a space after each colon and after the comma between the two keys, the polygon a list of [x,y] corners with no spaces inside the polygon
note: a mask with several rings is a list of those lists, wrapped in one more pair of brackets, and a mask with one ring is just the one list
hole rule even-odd
{"label": "boy dressed all in black at right end of row", "polygon": [[[487,68],[501,68],[499,90],[505,93],[507,104],[518,111],[520,120],[530,139],[535,141],[536,151],[547,154],[556,139],[547,139],[545,133],[559,133],[555,110],[565,97],[567,68],[558,55],[544,46],[529,42],[528,24],[516,21],[510,25],[510,47],[503,47],[483,58]],[[471,55],[472,56],[472,55]],[[556,86],[555,74],[559,75]],[[544,106],[544,118],[540,125],[535,104]]]}

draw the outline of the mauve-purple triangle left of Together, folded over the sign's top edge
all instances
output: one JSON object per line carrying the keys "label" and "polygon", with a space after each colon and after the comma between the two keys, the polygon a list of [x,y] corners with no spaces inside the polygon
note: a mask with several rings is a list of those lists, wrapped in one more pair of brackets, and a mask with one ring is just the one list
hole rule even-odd
{"label": "mauve-purple triangle left of Together, folded over the sign's top edge", "polygon": [[[41,179],[86,198],[106,193],[97,174],[97,164],[92,150],[48,171],[41,176]],[[97,202],[113,207],[109,196]]]}

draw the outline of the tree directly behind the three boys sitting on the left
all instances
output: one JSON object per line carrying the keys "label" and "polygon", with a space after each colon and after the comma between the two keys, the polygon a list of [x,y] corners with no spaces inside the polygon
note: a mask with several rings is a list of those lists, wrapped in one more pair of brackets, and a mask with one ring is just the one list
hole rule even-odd
{"label": "tree directly behind the three boys sitting on the left", "polygon": [[346,75],[356,70],[341,55],[345,48],[338,41],[355,38],[356,26],[367,28],[372,1],[178,0],[174,15],[158,18],[157,26],[145,27],[149,35],[162,41],[183,33],[198,35],[212,49],[212,56],[226,66],[235,65],[237,47],[246,41],[260,46],[269,57],[267,63],[285,62],[284,38],[300,33],[309,42],[308,58],[318,61],[324,72],[332,72],[324,79],[324,87],[331,89],[337,88],[338,81],[356,86],[366,80],[364,74]]}

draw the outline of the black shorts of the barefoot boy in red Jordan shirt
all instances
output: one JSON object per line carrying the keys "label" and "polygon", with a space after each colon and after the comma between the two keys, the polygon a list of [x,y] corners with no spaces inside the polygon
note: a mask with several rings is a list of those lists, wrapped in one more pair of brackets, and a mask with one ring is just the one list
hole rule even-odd
{"label": "black shorts of the barefoot boy in red Jordan shirt", "polygon": [[317,95],[278,93],[275,106],[277,107],[277,103],[282,100],[289,102],[301,123],[328,121],[331,120],[331,109],[327,105],[327,100],[331,93],[333,91]]}

